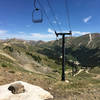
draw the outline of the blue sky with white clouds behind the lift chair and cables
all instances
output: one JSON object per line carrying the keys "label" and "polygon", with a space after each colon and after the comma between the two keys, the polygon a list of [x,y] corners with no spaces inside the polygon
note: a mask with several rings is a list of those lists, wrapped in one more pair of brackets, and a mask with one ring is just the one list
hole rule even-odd
{"label": "blue sky with white clouds behind the lift chair and cables", "polygon": [[[38,1],[38,0],[37,0]],[[47,1],[52,5],[57,22]],[[100,0],[67,0],[73,36],[100,32]],[[32,23],[34,0],[0,0],[0,39],[54,40],[53,28],[43,13],[43,23]],[[40,0],[56,31],[67,32],[65,0]],[[37,4],[38,5],[38,4]],[[42,10],[42,8],[40,8]],[[58,29],[60,25],[61,30]]]}

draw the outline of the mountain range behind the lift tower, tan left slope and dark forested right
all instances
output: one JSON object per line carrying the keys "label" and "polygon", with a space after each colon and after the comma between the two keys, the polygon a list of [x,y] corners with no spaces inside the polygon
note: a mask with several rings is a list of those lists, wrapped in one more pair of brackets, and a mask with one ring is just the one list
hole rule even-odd
{"label": "mountain range behind the lift tower, tan left slope and dark forested right", "polygon": [[[21,39],[0,40],[0,64],[3,66],[17,65],[28,70],[34,70],[34,68],[37,70],[36,66],[38,66],[43,71],[46,71],[45,68],[58,69],[61,65],[61,56],[62,39],[49,42]],[[67,61],[72,60],[78,61],[83,67],[99,66],[100,34],[66,37],[65,58],[66,64]]]}

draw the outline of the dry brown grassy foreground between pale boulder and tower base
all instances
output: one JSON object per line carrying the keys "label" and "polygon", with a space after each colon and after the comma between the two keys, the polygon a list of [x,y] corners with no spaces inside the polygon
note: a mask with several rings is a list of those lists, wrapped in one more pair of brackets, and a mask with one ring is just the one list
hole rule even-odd
{"label": "dry brown grassy foreground between pale boulder and tower base", "polygon": [[84,78],[84,81],[80,78],[79,82],[79,76],[75,76],[76,78],[70,77],[69,83],[67,83],[61,82],[59,75],[57,78],[53,78],[52,75],[15,71],[0,67],[0,85],[14,81],[28,82],[49,91],[54,96],[53,100],[100,100],[100,78],[97,79],[97,74],[92,76],[93,82],[88,82],[85,76],[81,76]]}

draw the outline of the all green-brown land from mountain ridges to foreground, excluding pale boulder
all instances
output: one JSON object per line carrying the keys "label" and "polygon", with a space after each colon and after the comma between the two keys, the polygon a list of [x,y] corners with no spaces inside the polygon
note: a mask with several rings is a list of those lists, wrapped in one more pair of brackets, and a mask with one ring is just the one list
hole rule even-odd
{"label": "all green-brown land from mountain ridges to foreground, excluding pale boulder", "polygon": [[[58,43],[1,40],[0,85],[21,80],[48,90],[54,100],[100,100],[100,34],[66,38],[66,82]],[[69,60],[80,63],[74,76]]]}

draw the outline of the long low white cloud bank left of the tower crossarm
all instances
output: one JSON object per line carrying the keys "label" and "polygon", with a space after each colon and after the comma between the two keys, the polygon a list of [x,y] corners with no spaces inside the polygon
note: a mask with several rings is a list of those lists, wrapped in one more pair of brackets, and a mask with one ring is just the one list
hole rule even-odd
{"label": "long low white cloud bank left of the tower crossarm", "polygon": [[[1,34],[3,32],[3,34]],[[23,40],[43,40],[43,41],[50,41],[50,40],[55,40],[56,36],[55,34],[48,33],[48,34],[41,34],[41,33],[24,33],[19,32],[22,34],[16,34],[16,33],[6,33],[7,31],[1,31],[0,30],[0,39],[11,39],[11,38],[17,38],[17,39],[23,39]],[[6,34],[4,34],[6,33]]]}

